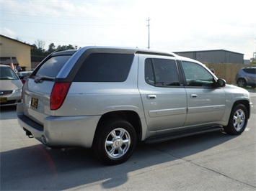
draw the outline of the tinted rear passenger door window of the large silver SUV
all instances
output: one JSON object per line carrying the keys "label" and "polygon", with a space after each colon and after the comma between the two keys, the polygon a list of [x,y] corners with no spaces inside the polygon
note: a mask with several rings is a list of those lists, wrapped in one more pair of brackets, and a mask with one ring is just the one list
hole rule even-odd
{"label": "tinted rear passenger door window of the large silver SUV", "polygon": [[158,86],[180,85],[175,60],[148,58],[145,60],[146,83]]}

